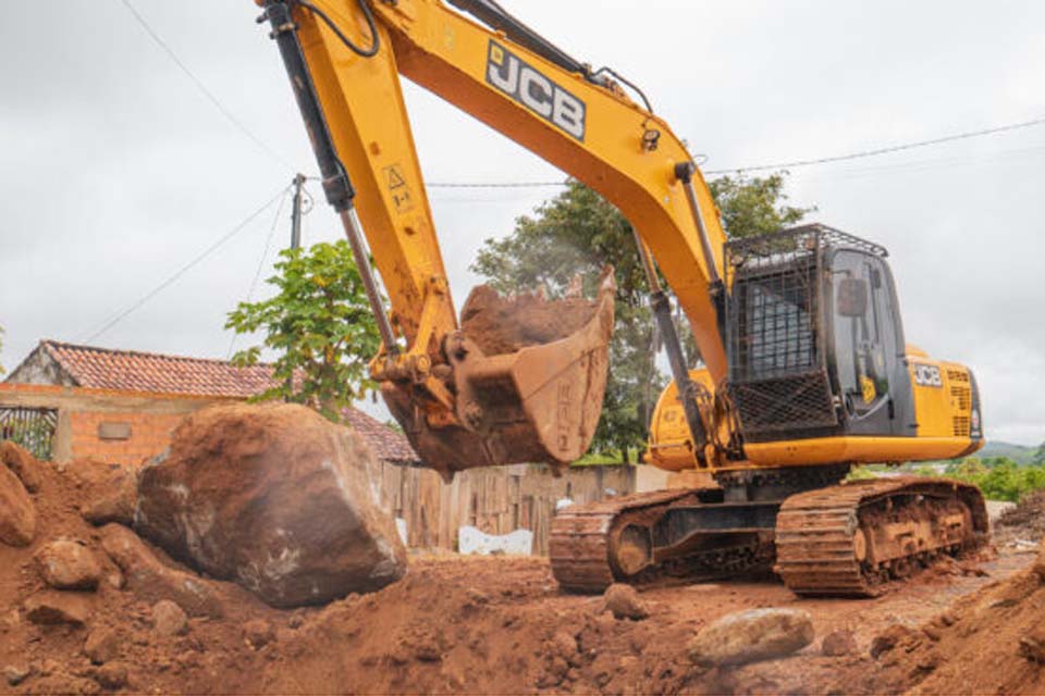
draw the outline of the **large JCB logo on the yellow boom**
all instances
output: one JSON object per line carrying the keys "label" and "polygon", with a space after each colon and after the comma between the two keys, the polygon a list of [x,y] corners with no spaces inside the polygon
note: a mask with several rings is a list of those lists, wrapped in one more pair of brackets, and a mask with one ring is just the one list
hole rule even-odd
{"label": "large JCB logo on the yellow boom", "polygon": [[487,82],[549,123],[585,141],[588,113],[585,102],[496,41],[490,41]]}

